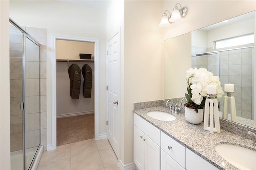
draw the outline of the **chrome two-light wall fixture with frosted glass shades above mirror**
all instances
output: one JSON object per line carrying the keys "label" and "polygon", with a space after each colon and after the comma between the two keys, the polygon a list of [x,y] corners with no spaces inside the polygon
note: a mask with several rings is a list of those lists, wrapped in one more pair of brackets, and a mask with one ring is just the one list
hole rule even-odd
{"label": "chrome two-light wall fixture with frosted glass shades above mirror", "polygon": [[[178,7],[179,6],[179,7]],[[164,11],[161,22],[159,24],[160,27],[168,27],[171,22],[176,22],[182,18],[184,18],[188,14],[188,8],[183,7],[178,3],[173,8],[172,14],[168,10]]]}

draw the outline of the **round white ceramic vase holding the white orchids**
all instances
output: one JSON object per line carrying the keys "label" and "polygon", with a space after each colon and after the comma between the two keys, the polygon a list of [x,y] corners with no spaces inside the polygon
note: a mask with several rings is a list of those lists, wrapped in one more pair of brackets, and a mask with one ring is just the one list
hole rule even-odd
{"label": "round white ceramic vase holding the white orchids", "polygon": [[192,124],[199,124],[204,119],[203,109],[198,109],[198,113],[194,109],[185,107],[185,119]]}

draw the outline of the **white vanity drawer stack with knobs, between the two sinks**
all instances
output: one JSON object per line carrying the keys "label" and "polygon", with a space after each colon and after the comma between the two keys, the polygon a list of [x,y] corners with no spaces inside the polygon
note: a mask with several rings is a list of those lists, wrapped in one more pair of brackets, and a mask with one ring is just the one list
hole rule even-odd
{"label": "white vanity drawer stack with knobs, between the two sinks", "polygon": [[186,147],[161,132],[161,170],[184,170]]}

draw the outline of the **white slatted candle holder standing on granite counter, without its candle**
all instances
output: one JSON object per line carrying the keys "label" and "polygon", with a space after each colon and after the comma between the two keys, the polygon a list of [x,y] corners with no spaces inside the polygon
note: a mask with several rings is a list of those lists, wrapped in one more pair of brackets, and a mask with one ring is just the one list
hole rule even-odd
{"label": "white slatted candle holder standing on granite counter, without its candle", "polygon": [[[213,132],[220,133],[218,100],[213,99],[215,94],[208,94],[208,95],[210,96],[210,98],[209,99],[207,98],[205,100],[205,107],[204,107],[204,130],[210,131],[211,134],[213,134]],[[210,113],[210,123],[209,123],[209,113]]]}

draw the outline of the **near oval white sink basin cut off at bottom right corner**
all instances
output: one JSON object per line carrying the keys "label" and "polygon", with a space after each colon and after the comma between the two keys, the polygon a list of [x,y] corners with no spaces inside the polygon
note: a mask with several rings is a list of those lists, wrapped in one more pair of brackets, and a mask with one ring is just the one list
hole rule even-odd
{"label": "near oval white sink basin cut off at bottom right corner", "polygon": [[222,158],[241,170],[256,170],[256,151],[237,145],[220,144],[215,147]]}

